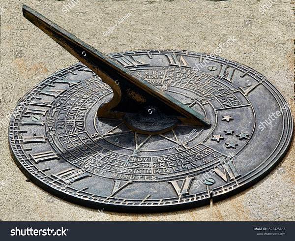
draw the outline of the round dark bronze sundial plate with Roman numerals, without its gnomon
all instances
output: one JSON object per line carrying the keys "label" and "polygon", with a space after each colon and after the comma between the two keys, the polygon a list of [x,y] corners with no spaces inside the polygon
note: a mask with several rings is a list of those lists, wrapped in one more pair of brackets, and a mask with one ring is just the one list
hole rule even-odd
{"label": "round dark bronze sundial plate with Roman numerals, without its gnomon", "polygon": [[144,135],[121,120],[98,119],[111,88],[82,63],[62,69],[24,96],[9,129],[16,164],[55,195],[117,211],[204,205],[258,181],[287,151],[288,103],[253,69],[189,51],[109,57],[211,125]]}

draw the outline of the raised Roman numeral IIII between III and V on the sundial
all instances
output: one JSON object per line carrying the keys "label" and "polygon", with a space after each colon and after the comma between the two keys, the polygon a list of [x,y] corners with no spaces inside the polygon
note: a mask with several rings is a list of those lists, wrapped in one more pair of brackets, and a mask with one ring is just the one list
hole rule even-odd
{"label": "raised Roman numeral IIII between III and V on the sundial", "polygon": [[84,179],[86,177],[91,177],[91,175],[86,173],[85,170],[76,169],[76,168],[69,168],[69,169],[63,170],[59,173],[56,173],[52,176],[60,179],[61,181],[65,182],[66,184],[71,184],[74,181],[79,181],[79,180]]}

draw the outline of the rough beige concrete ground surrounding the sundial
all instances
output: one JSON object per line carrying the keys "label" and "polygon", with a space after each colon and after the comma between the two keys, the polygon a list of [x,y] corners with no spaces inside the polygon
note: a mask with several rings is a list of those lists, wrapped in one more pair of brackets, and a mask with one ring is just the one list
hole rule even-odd
{"label": "rough beige concrete ground surrounding the sundial", "polygon": [[[185,211],[96,211],[62,201],[28,182],[10,156],[6,116],[36,83],[77,60],[22,16],[22,4],[103,53],[148,48],[211,53],[234,37],[236,43],[219,55],[266,75],[290,100],[295,113],[291,100],[295,39],[292,0],[1,0],[1,220],[295,220],[294,144],[278,167],[256,185],[211,206]],[[116,27],[124,16],[128,17]]]}

